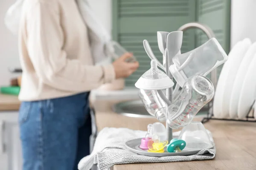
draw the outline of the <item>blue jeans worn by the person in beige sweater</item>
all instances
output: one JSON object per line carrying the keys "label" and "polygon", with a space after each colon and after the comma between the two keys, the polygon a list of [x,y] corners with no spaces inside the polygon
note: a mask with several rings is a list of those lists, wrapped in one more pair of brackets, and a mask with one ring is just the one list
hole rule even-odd
{"label": "blue jeans worn by the person in beige sweater", "polygon": [[22,102],[23,170],[77,170],[91,134],[89,93]]}

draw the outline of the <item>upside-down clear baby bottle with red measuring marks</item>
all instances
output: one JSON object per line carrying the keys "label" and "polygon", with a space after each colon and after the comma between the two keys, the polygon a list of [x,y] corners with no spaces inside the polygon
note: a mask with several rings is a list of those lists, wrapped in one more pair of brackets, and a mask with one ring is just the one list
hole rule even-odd
{"label": "upside-down clear baby bottle with red measuring marks", "polygon": [[166,119],[169,127],[177,129],[188,125],[213,96],[214,87],[207,77],[190,77],[168,107]]}

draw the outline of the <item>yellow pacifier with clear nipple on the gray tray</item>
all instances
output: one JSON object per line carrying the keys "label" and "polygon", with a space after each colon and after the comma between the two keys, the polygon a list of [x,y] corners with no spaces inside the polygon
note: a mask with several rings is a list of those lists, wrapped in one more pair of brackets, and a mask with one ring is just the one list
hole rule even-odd
{"label": "yellow pacifier with clear nipple on the gray tray", "polygon": [[152,136],[152,139],[148,141],[148,152],[163,153],[164,147],[168,144],[168,141],[161,141],[157,134]]}

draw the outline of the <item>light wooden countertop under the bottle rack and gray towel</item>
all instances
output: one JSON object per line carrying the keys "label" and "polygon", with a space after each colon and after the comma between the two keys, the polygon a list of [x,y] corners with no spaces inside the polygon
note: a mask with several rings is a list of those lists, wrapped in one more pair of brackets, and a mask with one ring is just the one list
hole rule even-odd
{"label": "light wooden countertop under the bottle rack and gray towel", "polygon": [[[115,102],[96,102],[96,124],[104,127],[128,127],[146,130],[155,119],[122,116],[111,111]],[[256,170],[256,122],[210,120],[204,126],[212,132],[216,157],[207,161],[140,163],[114,165],[113,170]]]}

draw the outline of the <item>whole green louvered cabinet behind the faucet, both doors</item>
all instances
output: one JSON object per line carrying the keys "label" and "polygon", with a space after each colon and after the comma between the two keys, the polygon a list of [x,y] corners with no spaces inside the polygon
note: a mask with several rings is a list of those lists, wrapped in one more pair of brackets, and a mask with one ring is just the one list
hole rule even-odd
{"label": "whole green louvered cabinet behind the faucet, both doors", "polygon": [[[228,52],[230,44],[230,0],[113,0],[113,40],[134,53],[140,68],[126,79],[126,86],[134,86],[150,68],[150,59],[143,48],[148,40],[155,56],[163,57],[157,45],[157,31],[176,31],[189,22],[207,24]],[[181,52],[186,52],[207,40],[198,30],[183,33]]]}

